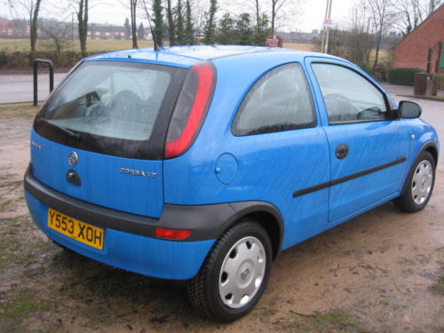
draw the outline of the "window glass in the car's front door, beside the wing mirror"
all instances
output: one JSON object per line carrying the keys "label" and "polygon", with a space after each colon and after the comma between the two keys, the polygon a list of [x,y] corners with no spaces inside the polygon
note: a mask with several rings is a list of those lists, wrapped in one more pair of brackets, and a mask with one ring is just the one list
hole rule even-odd
{"label": "window glass in the car's front door, beside the wing mirror", "polygon": [[374,121],[390,118],[385,98],[365,77],[334,64],[312,64],[321,87],[329,123]]}

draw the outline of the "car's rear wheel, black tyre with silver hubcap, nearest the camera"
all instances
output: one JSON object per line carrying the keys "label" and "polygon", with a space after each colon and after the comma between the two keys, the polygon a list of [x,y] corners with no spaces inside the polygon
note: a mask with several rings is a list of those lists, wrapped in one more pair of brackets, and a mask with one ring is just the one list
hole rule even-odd
{"label": "car's rear wheel, black tyre with silver hubcap, nearest the camera", "polygon": [[194,309],[214,321],[230,322],[249,313],[266,289],[272,246],[264,227],[245,220],[231,227],[188,281]]}

